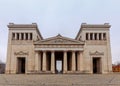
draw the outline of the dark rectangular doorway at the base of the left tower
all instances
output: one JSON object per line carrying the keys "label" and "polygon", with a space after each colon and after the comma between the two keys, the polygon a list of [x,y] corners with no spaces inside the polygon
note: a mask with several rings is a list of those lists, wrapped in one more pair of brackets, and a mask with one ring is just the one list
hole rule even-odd
{"label": "dark rectangular doorway at the base of the left tower", "polygon": [[18,58],[18,73],[25,73],[25,57]]}

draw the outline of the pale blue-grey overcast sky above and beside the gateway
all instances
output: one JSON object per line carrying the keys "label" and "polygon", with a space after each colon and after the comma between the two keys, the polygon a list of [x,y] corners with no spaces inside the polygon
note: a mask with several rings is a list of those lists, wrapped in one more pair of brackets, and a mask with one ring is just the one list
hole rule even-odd
{"label": "pale blue-grey overcast sky above and beside the gateway", "polygon": [[9,22],[36,22],[44,38],[75,38],[83,22],[110,23],[112,61],[120,61],[120,0],[0,0],[0,59],[6,61]]}

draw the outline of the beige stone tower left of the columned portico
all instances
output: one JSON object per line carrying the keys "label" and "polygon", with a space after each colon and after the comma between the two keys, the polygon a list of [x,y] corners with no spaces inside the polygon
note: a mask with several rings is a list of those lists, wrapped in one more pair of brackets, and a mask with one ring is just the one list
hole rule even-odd
{"label": "beige stone tower left of the columned portico", "polygon": [[[33,41],[41,40],[42,36],[37,24],[8,25],[8,49],[6,73],[29,72],[34,70],[34,45]],[[27,59],[29,58],[29,59]],[[17,65],[22,65],[25,70],[19,70]]]}

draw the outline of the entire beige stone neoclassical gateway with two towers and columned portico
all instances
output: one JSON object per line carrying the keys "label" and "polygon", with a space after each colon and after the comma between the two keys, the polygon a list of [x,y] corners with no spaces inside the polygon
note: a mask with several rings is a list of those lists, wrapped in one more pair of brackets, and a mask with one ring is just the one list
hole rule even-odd
{"label": "entire beige stone neoclassical gateway with two towers and columned portico", "polygon": [[7,74],[112,72],[108,23],[82,23],[75,39],[60,34],[44,39],[36,23],[8,28]]}

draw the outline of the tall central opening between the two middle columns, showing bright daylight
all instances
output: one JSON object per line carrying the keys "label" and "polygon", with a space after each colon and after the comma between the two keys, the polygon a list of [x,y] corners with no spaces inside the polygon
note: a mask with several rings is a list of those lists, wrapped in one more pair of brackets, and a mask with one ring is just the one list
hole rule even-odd
{"label": "tall central opening between the two middle columns, showing bright daylight", "polygon": [[55,52],[55,73],[63,73],[63,52]]}

